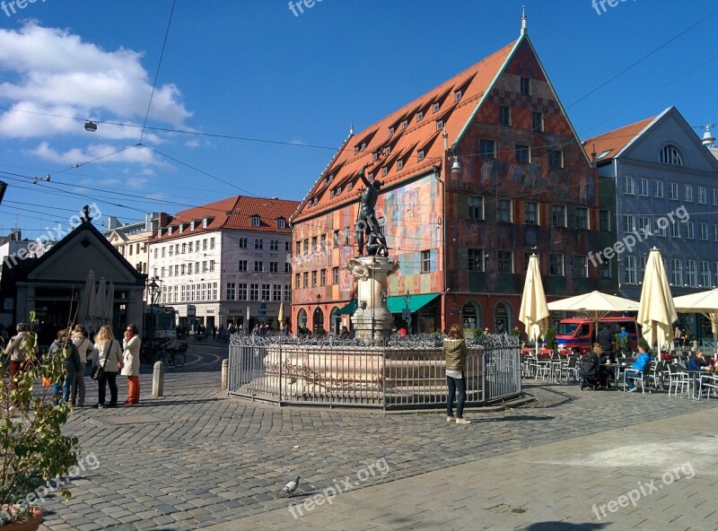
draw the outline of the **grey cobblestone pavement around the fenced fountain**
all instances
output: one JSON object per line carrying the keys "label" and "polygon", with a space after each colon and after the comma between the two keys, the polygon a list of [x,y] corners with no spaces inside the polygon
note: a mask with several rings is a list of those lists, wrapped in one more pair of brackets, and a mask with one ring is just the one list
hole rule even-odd
{"label": "grey cobblestone pavement around the fenced fountain", "polygon": [[[478,421],[461,427],[448,425],[440,412],[280,409],[218,393],[226,351],[226,346],[192,345],[185,368],[167,370],[162,398],[146,397],[148,373],[141,377],[140,405],[76,409],[66,431],[79,437],[81,455],[94,454],[99,466],[71,480],[70,501],[55,496],[43,504],[42,528],[207,527],[286,508],[280,490],[294,474],[303,478],[300,494],[316,492],[385,459],[391,473],[374,474],[359,485],[373,488],[718,405],[665,393],[581,392],[530,380],[525,390],[535,403],[502,413],[469,412]],[[92,382],[88,392],[95,393]],[[120,401],[123,393],[124,381]]]}

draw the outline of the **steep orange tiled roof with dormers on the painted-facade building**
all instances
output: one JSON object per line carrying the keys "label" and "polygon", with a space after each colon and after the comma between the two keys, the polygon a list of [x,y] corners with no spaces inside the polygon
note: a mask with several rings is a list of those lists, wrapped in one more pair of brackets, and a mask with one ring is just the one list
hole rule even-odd
{"label": "steep orange tiled roof with dormers on the painted-facade building", "polygon": [[[367,166],[367,177],[373,174],[385,187],[439,165],[444,148],[437,122],[442,120],[443,131],[448,135],[447,145],[451,147],[516,43],[513,41],[388,117],[349,136],[304,198],[292,221],[299,222],[328,207],[355,201],[355,188],[363,186],[358,176],[364,165]],[[457,91],[460,91],[459,100],[456,99]],[[439,109],[434,112],[436,103]],[[420,112],[423,118],[419,120]],[[418,153],[421,151],[424,151],[424,158],[420,161]],[[374,153],[378,153],[376,161]],[[387,169],[386,175],[383,168]]]}

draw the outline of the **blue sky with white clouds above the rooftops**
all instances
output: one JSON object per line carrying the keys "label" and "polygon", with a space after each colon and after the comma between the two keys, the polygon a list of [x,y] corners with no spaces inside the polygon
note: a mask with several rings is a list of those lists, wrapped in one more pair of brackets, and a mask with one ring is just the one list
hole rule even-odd
{"label": "blue sky with white clouds above the rooftops", "polygon": [[236,194],[301,200],[351,122],[371,125],[516,39],[524,4],[582,139],[671,105],[702,135],[718,122],[718,6],[611,1],[323,0],[300,13],[178,0],[143,134],[171,0],[5,0],[0,233],[17,222],[37,238],[92,202],[134,222]]}

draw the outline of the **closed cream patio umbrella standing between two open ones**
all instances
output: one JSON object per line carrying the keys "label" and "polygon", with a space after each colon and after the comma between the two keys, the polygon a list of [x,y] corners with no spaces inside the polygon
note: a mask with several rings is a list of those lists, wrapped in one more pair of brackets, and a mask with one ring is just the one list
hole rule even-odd
{"label": "closed cream patio umbrella standing between two open ones", "polygon": [[643,326],[641,334],[652,347],[658,344],[661,347],[673,337],[673,323],[678,320],[676,307],[673,305],[673,296],[663,267],[661,251],[651,249],[648,262],[645,265],[644,288],[641,291],[641,307],[638,309],[636,321]]}

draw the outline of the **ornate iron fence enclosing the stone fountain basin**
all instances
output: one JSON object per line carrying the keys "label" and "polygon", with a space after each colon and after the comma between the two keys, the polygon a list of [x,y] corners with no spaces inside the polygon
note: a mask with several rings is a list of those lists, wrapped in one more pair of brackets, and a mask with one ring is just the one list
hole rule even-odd
{"label": "ornate iron fence enclosing the stone fountain basin", "polygon": [[[230,395],[279,405],[439,408],[446,404],[442,335],[393,335],[381,346],[336,336],[233,335]],[[469,338],[467,405],[521,394],[519,342]]]}

